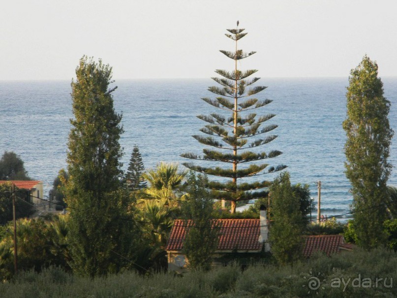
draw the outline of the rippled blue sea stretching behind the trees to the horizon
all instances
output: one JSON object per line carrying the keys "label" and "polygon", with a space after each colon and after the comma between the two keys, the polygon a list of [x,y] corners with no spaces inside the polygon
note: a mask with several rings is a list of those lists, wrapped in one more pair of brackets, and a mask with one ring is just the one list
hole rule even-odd
{"label": "rippled blue sea stretching behind the trees to the horizon", "polygon": [[[397,77],[382,78],[385,97],[391,101],[390,125],[397,130]],[[278,137],[258,147],[260,151],[280,150],[270,165],[286,165],[292,183],[308,184],[317,203],[317,182],[321,181],[321,212],[324,215],[348,213],[352,196],[344,173],[346,87],[348,78],[262,78],[258,85],[268,88],[258,99],[272,99],[265,107],[253,110],[258,116],[276,116],[266,124],[278,126]],[[139,146],[146,169],[160,162],[190,162],[180,155],[202,153],[204,145],[192,137],[202,134],[205,122],[196,116],[218,111],[201,98],[214,99],[207,88],[211,79],[117,80],[114,107],[122,114],[124,133],[123,169],[126,170],[133,146]],[[14,151],[25,162],[28,175],[44,182],[48,196],[61,168],[66,167],[66,152],[72,99],[70,81],[0,81],[0,154]],[[396,141],[389,162],[397,166]],[[214,165],[207,162],[207,166]],[[249,178],[272,180],[276,174]],[[211,177],[210,177],[211,178]],[[389,185],[397,185],[394,169]],[[313,215],[314,216],[314,215]],[[339,219],[348,219],[343,215]]]}

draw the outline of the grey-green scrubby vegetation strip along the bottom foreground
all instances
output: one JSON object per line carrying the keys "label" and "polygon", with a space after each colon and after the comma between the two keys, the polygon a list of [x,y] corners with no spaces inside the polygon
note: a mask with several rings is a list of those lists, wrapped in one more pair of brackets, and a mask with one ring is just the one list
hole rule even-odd
{"label": "grey-green scrubby vegetation strip along the bottom foreground", "polygon": [[[396,268],[397,254],[385,249],[357,250],[331,258],[318,254],[293,266],[258,264],[243,271],[237,265],[229,265],[183,276],[169,273],[139,275],[127,271],[91,279],[51,267],[41,273],[21,272],[12,281],[0,284],[0,293],[2,297],[14,298],[396,297],[397,286],[389,287],[391,278],[397,283]],[[308,281],[318,272],[321,286],[317,291],[310,290]],[[359,276],[361,286],[357,287],[356,281],[356,287],[353,287],[353,279]],[[377,287],[362,286],[364,278],[370,278],[374,285],[376,278],[386,277],[387,287],[383,280]],[[342,283],[339,288],[335,287],[336,278],[344,278],[347,286]],[[333,281],[334,287],[331,286]]]}

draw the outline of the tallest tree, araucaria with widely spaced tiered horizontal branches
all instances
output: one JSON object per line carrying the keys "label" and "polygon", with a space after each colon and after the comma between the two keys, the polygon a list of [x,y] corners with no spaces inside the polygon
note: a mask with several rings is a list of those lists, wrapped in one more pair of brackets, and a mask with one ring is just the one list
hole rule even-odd
{"label": "tallest tree, araucaria with widely spaced tiered horizontal branches", "polygon": [[[285,166],[269,166],[267,163],[254,164],[256,161],[263,161],[269,158],[279,156],[278,150],[269,153],[260,152],[256,147],[265,145],[276,138],[276,135],[265,135],[267,132],[273,131],[277,126],[274,124],[261,127],[261,125],[273,118],[274,114],[267,114],[257,117],[256,113],[251,110],[263,107],[272,100],[259,100],[253,96],[263,91],[267,87],[254,86],[259,80],[258,77],[248,78],[254,74],[256,69],[239,70],[238,62],[246,57],[251,56],[255,52],[245,53],[238,49],[238,41],[247,33],[243,33],[244,29],[228,29],[229,33],[225,35],[235,42],[235,50],[233,52],[220,52],[226,57],[233,60],[233,71],[216,69],[215,72],[221,77],[213,77],[212,79],[220,85],[209,87],[209,91],[216,94],[215,99],[203,98],[204,101],[221,110],[220,114],[213,113],[209,116],[199,115],[199,119],[208,124],[200,131],[208,134],[208,136],[193,135],[200,143],[221,149],[203,149],[204,156],[197,156],[193,153],[182,154],[182,157],[212,161],[229,164],[229,168],[219,166],[204,167],[201,165],[193,165],[192,163],[184,163],[183,165],[208,175],[225,177],[222,181],[211,181],[208,188],[212,190],[214,199],[224,199],[231,201],[231,211],[236,210],[236,202],[259,199],[267,196],[264,190],[270,185],[269,181],[244,182],[238,179],[245,177],[253,177],[265,174],[267,172],[275,172],[285,168]],[[226,114],[225,114],[226,113]],[[230,114],[231,113],[231,114]],[[264,136],[265,135],[265,136]],[[248,140],[251,138],[251,142]],[[244,166],[244,164],[246,166]],[[265,171],[265,169],[267,170]]]}

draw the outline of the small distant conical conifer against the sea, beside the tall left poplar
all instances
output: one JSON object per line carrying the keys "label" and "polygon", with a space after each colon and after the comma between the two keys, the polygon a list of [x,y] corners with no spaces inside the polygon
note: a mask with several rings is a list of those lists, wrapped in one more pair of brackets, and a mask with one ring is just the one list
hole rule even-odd
{"label": "small distant conical conifer against the sea, beside the tall left poplar", "polygon": [[146,187],[147,182],[142,177],[144,170],[145,166],[143,165],[141,153],[139,152],[138,146],[134,145],[131,153],[131,159],[129,160],[127,174],[125,176],[127,180],[127,186],[130,191],[135,191]]}

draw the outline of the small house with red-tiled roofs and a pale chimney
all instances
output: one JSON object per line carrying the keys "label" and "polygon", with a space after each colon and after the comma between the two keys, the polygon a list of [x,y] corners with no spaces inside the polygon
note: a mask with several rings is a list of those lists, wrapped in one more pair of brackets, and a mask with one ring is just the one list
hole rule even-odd
{"label": "small house with red-tiled roofs and a pale chimney", "polygon": [[[168,270],[183,272],[188,266],[188,260],[183,255],[183,241],[186,231],[192,227],[192,220],[175,220],[172,227],[166,252],[168,258]],[[217,219],[213,227],[219,227],[218,246],[213,259],[231,253],[254,254],[263,250],[270,252],[268,241],[269,222],[266,218],[266,210],[260,211],[259,219]],[[332,254],[352,251],[354,245],[345,243],[343,235],[310,235],[302,236],[304,239],[303,256],[309,258],[314,252],[321,251],[327,256]],[[213,262],[218,265],[219,262]]]}

